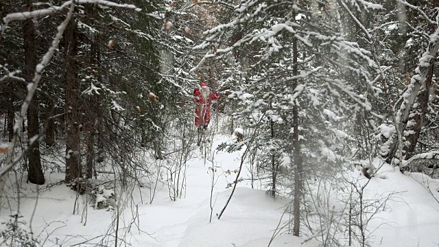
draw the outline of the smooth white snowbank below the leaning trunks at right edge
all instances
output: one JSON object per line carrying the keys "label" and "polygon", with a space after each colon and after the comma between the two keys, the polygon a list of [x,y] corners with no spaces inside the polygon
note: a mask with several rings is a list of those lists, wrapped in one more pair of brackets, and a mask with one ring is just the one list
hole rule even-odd
{"label": "smooth white snowbank below the leaning trunks at right edge", "polygon": [[[439,246],[439,180],[424,174],[401,174],[384,165],[372,178],[368,196],[396,192],[390,209],[377,215],[374,246]],[[431,193],[430,193],[431,192]]]}

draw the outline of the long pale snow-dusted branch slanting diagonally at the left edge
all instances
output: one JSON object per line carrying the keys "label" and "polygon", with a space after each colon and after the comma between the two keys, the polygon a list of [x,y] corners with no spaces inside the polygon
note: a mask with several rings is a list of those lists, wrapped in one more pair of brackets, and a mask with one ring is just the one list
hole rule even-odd
{"label": "long pale snow-dusted branch slanting diagonally at the left edge", "polygon": [[[58,26],[57,30],[58,33],[56,34],[54,40],[52,41],[52,45],[49,48],[49,51],[43,56],[40,63],[36,65],[35,68],[35,75],[34,79],[32,80],[32,83],[29,83],[27,85],[27,95],[25,102],[21,106],[20,111],[20,117],[15,122],[14,125],[14,136],[12,137],[12,144],[10,149],[8,150],[8,157],[6,159],[5,167],[0,171],[0,178],[8,174],[8,171],[15,165],[15,161],[12,161],[12,156],[14,153],[14,149],[18,143],[19,140],[19,132],[21,130],[22,123],[25,119],[25,115],[27,113],[27,108],[29,108],[29,104],[32,101],[32,97],[34,97],[34,93],[36,91],[36,87],[38,86],[38,82],[40,82],[43,69],[49,64],[51,58],[54,56],[54,53],[56,50],[58,50],[58,45],[60,44],[60,40],[62,38],[62,34],[64,34],[64,30],[66,30],[67,25],[69,24],[69,21],[71,20],[71,17],[73,16],[73,10],[75,9],[75,3],[71,3],[69,13],[67,14],[66,19],[62,21],[62,23]],[[34,139],[36,141],[36,139]],[[29,146],[32,146],[33,142],[29,142]]]}

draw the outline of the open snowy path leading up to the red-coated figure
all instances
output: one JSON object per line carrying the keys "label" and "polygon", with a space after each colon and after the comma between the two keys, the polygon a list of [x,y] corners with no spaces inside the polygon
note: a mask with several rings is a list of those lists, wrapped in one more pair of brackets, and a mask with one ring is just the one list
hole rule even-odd
{"label": "open snowy path leading up to the red-coated figure", "polygon": [[[213,147],[222,141],[224,139],[217,137]],[[237,158],[239,154],[215,154],[215,167],[237,169]],[[241,175],[246,176],[246,170]],[[226,185],[235,176],[232,173],[215,177],[213,217],[209,223],[211,172],[209,163],[204,165],[202,158],[195,158],[189,163],[185,198],[171,202],[167,188],[163,188],[164,191],[158,193],[152,205],[141,209],[144,213],[141,228],[154,233],[157,241],[142,235],[139,246],[268,246],[288,202],[270,198],[265,191],[250,189],[250,185],[240,183],[222,219],[217,220],[215,216],[224,207],[231,192],[231,189],[225,189]],[[283,240],[285,242],[285,237]],[[289,236],[286,242],[292,241],[294,238]],[[300,239],[296,241],[299,243]],[[273,246],[277,246],[276,243]]]}

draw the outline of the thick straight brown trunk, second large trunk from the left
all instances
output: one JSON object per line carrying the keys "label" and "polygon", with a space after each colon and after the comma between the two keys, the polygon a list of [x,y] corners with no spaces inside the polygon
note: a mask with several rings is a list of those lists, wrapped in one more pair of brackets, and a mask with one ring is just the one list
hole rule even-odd
{"label": "thick straight brown trunk, second large trunk from the left", "polygon": [[66,183],[82,178],[80,160],[80,87],[78,82],[77,23],[72,19],[64,33],[66,60]]}

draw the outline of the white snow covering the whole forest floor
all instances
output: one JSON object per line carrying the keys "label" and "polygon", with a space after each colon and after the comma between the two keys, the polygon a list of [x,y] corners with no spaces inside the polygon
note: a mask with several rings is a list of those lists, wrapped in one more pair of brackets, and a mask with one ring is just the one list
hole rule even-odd
{"label": "white snow covering the whole forest floor", "polygon": [[[213,148],[225,139],[226,137],[215,136]],[[147,203],[150,201],[149,189],[146,187],[134,189],[132,195],[128,196],[132,200],[129,200],[119,218],[121,232],[128,232],[127,227],[132,226],[130,234],[126,235],[126,242],[131,246],[163,247],[268,246],[289,200],[274,199],[265,191],[251,189],[248,183],[242,182],[239,183],[224,215],[217,220],[217,213],[224,207],[230,195],[231,189],[226,189],[226,185],[235,179],[234,173],[228,175],[222,171],[239,168],[239,153],[219,152],[215,154],[215,167],[218,169],[218,174],[222,175],[215,177],[213,217],[212,222],[209,223],[212,183],[210,166],[211,163],[208,161],[204,164],[202,158],[194,158],[189,162],[185,198],[175,202],[169,199],[166,186],[159,188],[152,204]],[[357,171],[353,172],[353,176],[358,174]],[[241,172],[241,176],[247,176],[246,169]],[[64,174],[46,174],[46,184],[56,183],[62,178]],[[375,220],[370,222],[371,228],[385,223],[375,231],[372,246],[438,246],[439,202],[434,198],[439,199],[439,193],[436,192],[438,189],[437,181],[426,176],[420,174],[407,176],[390,165],[381,167],[379,176],[370,181],[366,197],[400,193],[394,196],[394,200],[388,202],[389,209],[381,211]],[[8,187],[7,192],[8,198],[17,198],[16,189]],[[113,233],[108,229],[111,228],[115,211],[84,207],[86,198],[80,196],[78,198],[82,202],[80,213],[73,214],[77,194],[64,184],[54,185],[37,195],[35,185],[23,183],[23,189],[19,193],[21,195],[19,211],[28,222],[27,226],[32,227],[36,235],[43,232],[40,235],[42,244],[44,242],[43,246],[70,246],[92,239],[82,245],[91,246],[90,244],[99,243],[102,236]],[[142,200],[143,204],[141,204]],[[0,211],[0,220],[5,222],[9,219],[10,209],[17,210],[17,202],[3,200],[1,203],[3,208]],[[85,208],[87,212],[84,211]],[[137,214],[139,220],[133,222],[132,215]],[[284,219],[285,217],[288,216],[284,216]],[[31,221],[32,224],[29,225]],[[137,224],[141,231],[137,228]],[[45,237],[47,235],[49,235],[48,239]],[[318,246],[314,241],[301,245],[304,239],[281,235],[274,239],[271,246]],[[114,243],[110,245],[114,246]]]}

